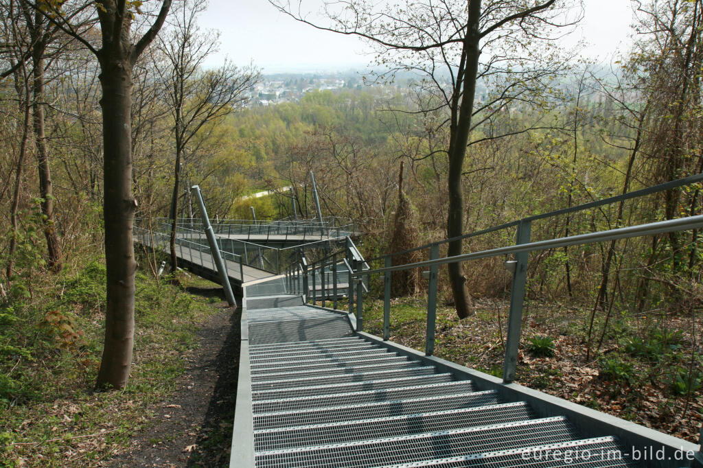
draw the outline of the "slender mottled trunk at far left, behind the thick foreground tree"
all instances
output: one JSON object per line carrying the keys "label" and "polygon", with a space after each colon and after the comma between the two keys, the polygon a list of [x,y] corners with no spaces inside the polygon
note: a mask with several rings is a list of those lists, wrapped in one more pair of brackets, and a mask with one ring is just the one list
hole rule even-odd
{"label": "slender mottled trunk at far left, behind the thick foreground tree", "polygon": [[46,148],[44,132],[44,45],[34,45],[32,51],[32,71],[34,82],[34,136],[37,145],[37,167],[39,169],[39,196],[41,197],[41,214],[43,216],[44,237],[49,251],[49,268],[51,271],[61,270],[61,246],[56,235],[56,222],[53,216],[53,190],[51,188],[51,169],[49,167],[49,151]]}

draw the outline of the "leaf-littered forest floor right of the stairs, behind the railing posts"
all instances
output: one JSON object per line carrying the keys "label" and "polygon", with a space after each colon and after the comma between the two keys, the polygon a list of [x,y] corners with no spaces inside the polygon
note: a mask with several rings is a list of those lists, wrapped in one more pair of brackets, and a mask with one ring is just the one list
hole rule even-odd
{"label": "leaf-littered forest floor right of the stairs, behind the railing posts", "polygon": [[[453,308],[439,306],[435,356],[502,377],[508,308],[504,299],[475,299],[475,315],[459,320]],[[382,334],[382,311],[382,300],[366,303],[364,331]],[[597,318],[586,360],[590,312],[583,304],[529,301],[516,382],[699,443],[703,356],[692,333],[703,330],[703,317],[621,314],[595,351],[603,325]],[[424,351],[426,318],[426,299],[394,299],[390,339]]]}

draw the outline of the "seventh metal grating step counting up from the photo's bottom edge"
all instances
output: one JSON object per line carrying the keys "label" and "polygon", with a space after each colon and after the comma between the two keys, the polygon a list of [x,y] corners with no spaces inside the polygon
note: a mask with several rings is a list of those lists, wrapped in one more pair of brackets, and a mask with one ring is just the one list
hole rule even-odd
{"label": "seventh metal grating step counting up from the photo's bottom edge", "polygon": [[394,379],[399,377],[414,377],[416,375],[433,375],[434,366],[427,365],[418,368],[395,370],[373,370],[355,374],[318,375],[296,379],[267,380],[266,382],[252,383],[252,391],[266,391],[278,389],[299,389],[300,387],[347,384],[351,382],[373,382],[376,379]]}

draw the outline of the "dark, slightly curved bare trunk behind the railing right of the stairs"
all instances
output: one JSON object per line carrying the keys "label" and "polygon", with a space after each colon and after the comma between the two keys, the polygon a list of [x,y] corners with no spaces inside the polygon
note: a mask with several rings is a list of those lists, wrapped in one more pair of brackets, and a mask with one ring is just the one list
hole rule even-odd
{"label": "dark, slightly curved bare trunk behind the railing right of the stairs", "polygon": [[[447,208],[447,235],[449,238],[456,238],[463,233],[463,213],[464,202],[461,190],[461,176],[464,167],[464,157],[469,142],[469,132],[471,129],[471,115],[474,108],[474,97],[476,93],[476,76],[478,73],[479,55],[479,17],[481,13],[481,0],[469,1],[469,24],[463,49],[466,56],[466,72],[463,76],[463,88],[461,105],[458,112],[456,126],[451,129],[449,142],[449,175],[447,176],[447,186],[449,188],[449,207]],[[455,91],[458,92],[458,91]],[[447,256],[461,254],[462,240],[453,240],[447,247]],[[454,297],[456,313],[460,318],[470,316],[473,312],[471,296],[466,289],[466,278],[463,275],[460,263],[448,265],[449,281]]]}

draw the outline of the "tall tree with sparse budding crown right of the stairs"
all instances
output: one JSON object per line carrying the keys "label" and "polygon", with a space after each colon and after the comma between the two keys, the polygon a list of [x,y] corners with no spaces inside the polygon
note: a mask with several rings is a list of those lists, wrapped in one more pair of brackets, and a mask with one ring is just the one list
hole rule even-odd
{"label": "tall tree with sparse budding crown right of the stairs", "polygon": [[[492,126],[512,107],[548,105],[555,77],[567,62],[557,55],[560,29],[580,19],[572,0],[445,0],[412,1],[407,5],[363,0],[324,1],[327,20],[311,20],[303,1],[269,0],[279,11],[320,30],[366,39],[377,51],[380,77],[398,71],[421,77],[416,86],[434,96],[426,108],[441,109],[441,126],[449,142],[441,154],[449,162],[447,256],[462,252],[465,207],[463,183],[470,145],[544,127],[544,114],[519,129]],[[476,98],[479,85],[486,91]],[[538,114],[538,113],[537,113]],[[472,138],[472,132],[475,138]],[[427,155],[429,157],[430,155]],[[432,155],[434,156],[434,155]],[[449,279],[460,318],[472,313],[472,301],[459,263],[449,264]]]}

